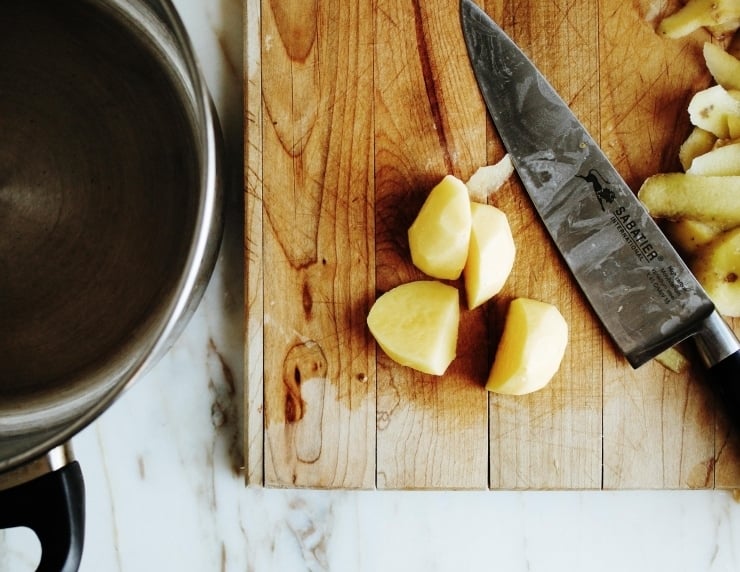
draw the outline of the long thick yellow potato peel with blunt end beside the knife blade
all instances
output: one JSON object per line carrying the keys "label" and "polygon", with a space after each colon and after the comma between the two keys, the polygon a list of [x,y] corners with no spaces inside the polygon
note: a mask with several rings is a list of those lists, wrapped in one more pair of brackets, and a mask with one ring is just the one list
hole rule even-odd
{"label": "long thick yellow potato peel with blunt end beside the knife blade", "polygon": [[655,218],[698,220],[722,229],[740,225],[740,177],[663,173],[649,177],[637,194]]}

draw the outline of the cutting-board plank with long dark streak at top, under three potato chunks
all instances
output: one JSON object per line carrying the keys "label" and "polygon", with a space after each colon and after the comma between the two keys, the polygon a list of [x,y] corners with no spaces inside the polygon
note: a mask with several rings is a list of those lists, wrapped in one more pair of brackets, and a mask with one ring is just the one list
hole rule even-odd
{"label": "cutting-board plank with long dark streak at top, under three potato chunks", "polygon": [[[472,79],[457,4],[380,0],[376,10],[375,169],[378,293],[423,275],[406,230],[446,173],[485,162],[485,111],[459,85]],[[472,85],[472,84],[469,84]],[[475,100],[473,100],[475,101]],[[482,312],[463,313],[458,358],[440,378],[378,356],[379,488],[484,488],[488,367]],[[451,414],[454,412],[454,414]]]}

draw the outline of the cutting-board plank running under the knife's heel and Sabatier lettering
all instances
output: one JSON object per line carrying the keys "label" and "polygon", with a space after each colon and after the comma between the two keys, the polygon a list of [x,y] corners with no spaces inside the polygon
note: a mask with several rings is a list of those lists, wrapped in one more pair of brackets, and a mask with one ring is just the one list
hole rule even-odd
{"label": "cutting-board plank running under the knife's heel and Sabatier lettering", "polygon": [[[689,99],[711,79],[701,56],[706,36],[660,38],[653,4],[602,3],[598,44],[601,144],[635,191],[651,174],[680,169]],[[678,376],[655,364],[632,371],[621,356],[606,358],[603,486],[713,487],[715,407],[701,372]]]}

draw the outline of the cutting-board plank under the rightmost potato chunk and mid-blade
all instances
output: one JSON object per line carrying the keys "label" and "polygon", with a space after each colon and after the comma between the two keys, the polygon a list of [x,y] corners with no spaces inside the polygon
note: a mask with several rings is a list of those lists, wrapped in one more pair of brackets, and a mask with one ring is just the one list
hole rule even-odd
{"label": "cutting-board plank under the rightmost potato chunk and mid-blade", "polygon": [[[491,13],[539,66],[587,129],[598,130],[598,8],[592,2],[494,3]],[[492,488],[601,486],[603,336],[518,183],[496,195],[517,243],[512,275],[493,304],[501,324],[508,302],[526,296],[555,304],[570,341],[555,379],[529,396],[490,397]],[[558,277],[553,279],[553,277]]]}

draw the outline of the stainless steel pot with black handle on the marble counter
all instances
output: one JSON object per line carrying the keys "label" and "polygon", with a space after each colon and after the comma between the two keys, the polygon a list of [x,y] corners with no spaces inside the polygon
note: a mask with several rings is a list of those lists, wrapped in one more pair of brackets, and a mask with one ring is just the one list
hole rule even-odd
{"label": "stainless steel pot with black handle on the marble counter", "polygon": [[[53,459],[199,302],[220,131],[169,0],[24,0],[0,18],[0,134],[0,527],[35,528],[40,570],[75,570],[82,477]],[[19,522],[44,521],[18,500],[39,472],[78,527],[68,550]]]}

